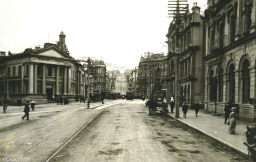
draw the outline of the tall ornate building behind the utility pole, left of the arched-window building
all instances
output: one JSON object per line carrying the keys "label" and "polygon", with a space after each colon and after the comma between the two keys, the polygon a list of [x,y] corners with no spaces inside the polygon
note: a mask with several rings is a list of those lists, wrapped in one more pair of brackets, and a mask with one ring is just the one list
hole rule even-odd
{"label": "tall ornate building behind the utility pole, left of the arched-window building", "polygon": [[204,102],[204,19],[197,5],[192,13],[180,16],[173,19],[166,35],[167,98],[178,94],[180,104],[190,105]]}

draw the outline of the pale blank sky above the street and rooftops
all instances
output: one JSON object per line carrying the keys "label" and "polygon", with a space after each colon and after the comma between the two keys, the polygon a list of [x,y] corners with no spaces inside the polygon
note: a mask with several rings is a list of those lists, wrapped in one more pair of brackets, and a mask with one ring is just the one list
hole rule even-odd
{"label": "pale blank sky above the street and rooftops", "polygon": [[[193,2],[197,1],[188,0],[190,9]],[[200,0],[198,6],[205,9],[206,3]],[[146,51],[167,53],[165,35],[172,21],[167,4],[168,0],[0,0],[0,51],[19,53],[56,43],[64,31],[73,58],[102,57],[105,63],[133,69]]]}

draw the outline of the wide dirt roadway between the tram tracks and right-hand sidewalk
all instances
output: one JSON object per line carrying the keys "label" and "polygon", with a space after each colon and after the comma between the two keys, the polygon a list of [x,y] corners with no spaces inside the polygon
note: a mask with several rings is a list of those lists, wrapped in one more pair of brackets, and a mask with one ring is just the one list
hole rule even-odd
{"label": "wide dirt roadway between the tram tracks and right-hand sidewalk", "polygon": [[[57,150],[56,150],[57,151]],[[104,109],[50,161],[246,161],[141,100]]]}

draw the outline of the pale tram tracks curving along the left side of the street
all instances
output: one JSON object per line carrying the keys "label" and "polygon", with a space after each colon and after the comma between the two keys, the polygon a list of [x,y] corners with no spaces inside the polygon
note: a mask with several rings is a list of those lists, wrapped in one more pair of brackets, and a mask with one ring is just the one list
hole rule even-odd
{"label": "pale tram tracks curving along the left side of the street", "polygon": [[[109,106],[111,106],[111,105],[116,105],[116,104],[119,104],[119,103],[120,103],[120,102],[118,102],[118,103],[104,104],[104,108],[103,108],[103,109],[100,109],[99,112],[97,112],[97,114],[95,114],[95,115],[89,120],[89,122],[86,122],[86,123],[82,126],[81,129],[79,129],[74,135],[72,135],[72,137],[71,137],[62,147],[64,147],[66,144],[68,144],[69,141],[72,140],[72,138],[74,138],[81,130],[84,129],[84,127],[86,127],[89,123],[91,123],[91,121],[92,121],[95,117],[97,117],[98,114],[99,114],[100,112],[102,112],[102,111],[105,109],[105,107],[109,107]],[[91,109],[95,109],[95,108],[97,108],[97,107],[99,107],[99,106],[102,106],[102,105],[95,105],[95,106],[93,106],[93,108],[91,107]],[[84,108],[85,108],[85,107],[84,107]],[[37,131],[37,130],[39,130],[39,129],[43,129],[43,127],[46,127],[47,125],[49,125],[49,124],[51,124],[51,123],[55,123],[55,122],[57,122],[58,120],[64,119],[65,117],[71,116],[72,114],[75,114],[75,113],[77,113],[78,111],[81,111],[81,110],[84,109],[84,108],[83,108],[83,107],[82,107],[82,108],[79,107],[77,111],[72,112],[71,114],[67,114],[66,116],[63,116],[63,117],[61,117],[61,118],[58,118],[58,119],[56,119],[56,120],[54,120],[54,121],[52,121],[52,122],[50,122],[50,123],[47,123],[47,124],[45,124],[45,125],[43,125],[43,126],[40,126],[40,127],[38,127],[37,129],[35,129],[35,130],[32,130],[32,131],[30,131],[30,132],[26,132],[25,134],[22,134],[21,136],[18,136],[18,137],[16,137],[16,138],[13,138],[13,139],[7,141],[7,142],[4,143],[4,144],[1,144],[0,147],[3,147],[4,145],[6,145],[6,144],[8,144],[8,143],[12,143],[13,141],[17,140],[18,138],[24,137],[24,136],[26,136],[26,135],[28,135],[28,134],[31,134],[32,132],[35,132],[35,131]],[[22,154],[25,154],[25,152],[28,152],[28,151],[31,150],[33,147],[35,147],[35,146],[37,146],[37,145],[43,143],[43,141],[49,139],[50,137],[52,137],[53,135],[57,134],[58,132],[60,132],[60,131],[62,131],[62,130],[64,130],[64,129],[66,129],[67,127],[71,126],[71,125],[74,124],[75,122],[78,122],[78,121],[80,120],[80,118],[82,118],[82,117],[83,117],[83,113],[81,113],[80,116],[76,117],[75,120],[72,120],[72,121],[69,122],[67,125],[64,125],[64,126],[60,127],[57,131],[54,131],[54,132],[50,133],[48,136],[44,137],[43,139],[41,139],[41,140],[39,140],[39,141],[36,141],[35,144],[29,146],[29,147],[26,148],[25,150],[23,150],[23,151],[19,152],[18,154],[12,156],[11,158],[9,158],[8,161],[12,161],[12,160],[14,160],[15,158],[17,158],[18,156],[21,156]],[[38,122],[39,122],[39,121],[38,121]],[[31,124],[29,124],[29,125],[31,125]],[[28,125],[26,125],[26,126],[28,126]],[[15,130],[17,130],[17,129],[15,129]],[[15,131],[15,130],[12,130],[12,131]],[[8,132],[10,132],[10,131],[8,131]],[[3,134],[3,133],[2,133],[2,134]],[[1,138],[1,137],[0,137],[0,138]],[[60,149],[61,149],[62,147],[60,147]],[[59,149],[59,150],[60,150],[60,149]],[[59,151],[59,150],[58,150],[58,151]],[[57,153],[57,152],[56,152],[56,153]],[[55,153],[55,154],[56,154],[56,153]],[[53,155],[53,156],[54,156],[54,155]],[[52,156],[52,157],[53,157],[53,156]]]}

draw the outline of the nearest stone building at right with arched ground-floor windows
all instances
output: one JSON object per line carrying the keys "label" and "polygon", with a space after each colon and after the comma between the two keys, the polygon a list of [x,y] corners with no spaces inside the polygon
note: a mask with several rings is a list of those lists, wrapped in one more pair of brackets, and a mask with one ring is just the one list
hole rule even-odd
{"label": "nearest stone building at right with arched ground-floor windows", "polygon": [[223,114],[239,104],[239,119],[255,122],[256,2],[208,0],[205,17],[205,109]]}

